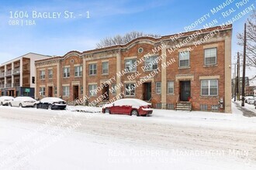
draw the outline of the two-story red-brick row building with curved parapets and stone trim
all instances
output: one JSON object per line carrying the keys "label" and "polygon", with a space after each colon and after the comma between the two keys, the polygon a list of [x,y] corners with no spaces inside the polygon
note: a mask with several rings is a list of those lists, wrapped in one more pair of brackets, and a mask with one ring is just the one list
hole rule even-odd
{"label": "two-story red-brick row building with curved parapets and stone trim", "polygon": [[231,111],[232,26],[140,37],[125,45],[36,61],[36,97],[139,98],[154,107]]}

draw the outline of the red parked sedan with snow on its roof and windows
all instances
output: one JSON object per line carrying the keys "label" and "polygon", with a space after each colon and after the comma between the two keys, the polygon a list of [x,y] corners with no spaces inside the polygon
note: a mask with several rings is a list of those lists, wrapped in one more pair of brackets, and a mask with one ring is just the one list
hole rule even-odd
{"label": "red parked sedan with snow on its roof and windows", "polygon": [[153,113],[151,104],[140,99],[120,99],[102,107],[102,113],[147,116]]}

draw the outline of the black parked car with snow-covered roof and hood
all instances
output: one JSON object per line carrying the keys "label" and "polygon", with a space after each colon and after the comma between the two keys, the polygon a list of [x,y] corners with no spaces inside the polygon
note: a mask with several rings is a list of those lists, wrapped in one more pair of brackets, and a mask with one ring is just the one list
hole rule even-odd
{"label": "black parked car with snow-covered roof and hood", "polygon": [[43,99],[36,101],[34,107],[41,109],[61,109],[64,110],[67,107],[67,103],[61,98],[57,97],[44,97]]}

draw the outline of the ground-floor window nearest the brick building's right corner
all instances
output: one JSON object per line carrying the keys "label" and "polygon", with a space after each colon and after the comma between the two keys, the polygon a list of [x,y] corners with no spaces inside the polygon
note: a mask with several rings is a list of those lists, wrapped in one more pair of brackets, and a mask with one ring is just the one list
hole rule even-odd
{"label": "ground-floor window nearest the brick building's right corner", "polygon": [[218,80],[201,80],[201,95],[202,96],[218,95]]}

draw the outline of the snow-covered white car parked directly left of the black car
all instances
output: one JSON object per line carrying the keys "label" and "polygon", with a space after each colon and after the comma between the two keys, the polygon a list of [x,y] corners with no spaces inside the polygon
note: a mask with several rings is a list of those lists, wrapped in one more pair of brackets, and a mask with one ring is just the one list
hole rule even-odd
{"label": "snow-covered white car parked directly left of the black car", "polygon": [[32,97],[16,97],[9,102],[11,107],[33,107],[36,100]]}

